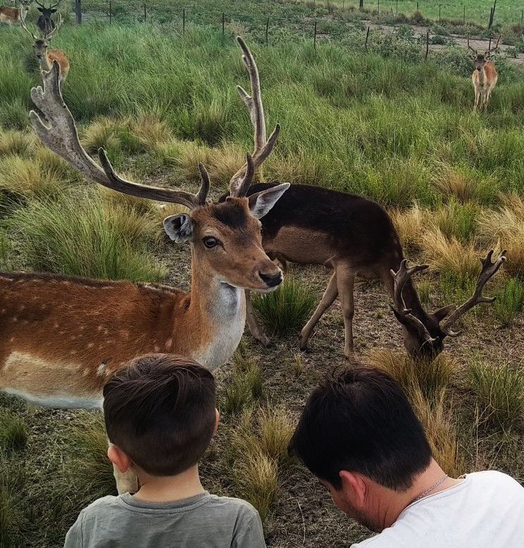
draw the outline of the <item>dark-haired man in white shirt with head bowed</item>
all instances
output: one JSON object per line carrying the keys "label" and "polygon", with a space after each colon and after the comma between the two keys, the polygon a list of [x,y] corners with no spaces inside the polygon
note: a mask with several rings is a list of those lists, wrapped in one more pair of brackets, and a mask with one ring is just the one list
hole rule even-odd
{"label": "dark-haired man in white shirt with head bowed", "polygon": [[289,451],[339,509],[379,533],[352,548],[524,547],[524,488],[496,471],[449,478],[403,390],[380,369],[326,378]]}

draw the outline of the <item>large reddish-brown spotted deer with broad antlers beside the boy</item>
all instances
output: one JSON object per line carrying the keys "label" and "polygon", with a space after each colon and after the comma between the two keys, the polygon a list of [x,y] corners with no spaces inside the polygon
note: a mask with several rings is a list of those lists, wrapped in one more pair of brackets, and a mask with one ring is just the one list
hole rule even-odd
{"label": "large reddish-brown spotted deer with broad antlers beside the boy", "polygon": [[[256,65],[238,39],[250,70]],[[246,193],[256,167],[271,153],[278,129],[234,177],[223,203],[207,200],[210,181],[199,165],[196,194],[126,181],[103,149],[100,165],[82,148],[63,101],[60,68],[44,72],[31,98],[32,127],[46,146],[96,183],[118,192],[189,208],[163,225],[175,242],[192,247],[189,293],[168,286],[12,272],[0,276],[0,390],[50,407],[99,407],[113,371],[148,352],[192,357],[209,369],[230,359],[244,331],[244,289],[272,291],[282,271],[262,248],[258,219],[288,189]],[[254,91],[256,93],[256,90]],[[127,484],[117,475],[118,489]]]}

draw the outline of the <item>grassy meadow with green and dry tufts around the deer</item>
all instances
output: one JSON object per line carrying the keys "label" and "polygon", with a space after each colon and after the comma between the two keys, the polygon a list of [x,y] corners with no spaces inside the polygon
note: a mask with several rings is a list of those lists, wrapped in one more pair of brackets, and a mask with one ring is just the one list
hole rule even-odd
{"label": "grassy meadow with green and dry tufts around the deer", "polygon": [[[87,151],[104,146],[127,178],[194,190],[203,162],[214,195],[227,188],[252,146],[235,91],[248,86],[233,39],[242,34],[260,70],[268,128],[282,126],[262,179],[326,186],[384,205],[406,255],[430,265],[417,280],[430,309],[467,298],[478,257],[508,250],[486,291],[497,301],[467,314],[463,335],[447,340],[434,363],[406,358],[387,295],[373,282],[356,288],[354,331],[363,362],[387,369],[406,389],[448,473],[493,468],[524,482],[524,72],[497,58],[489,110],[475,114],[465,51],[447,46],[424,62],[411,27],[374,32],[365,51],[361,25],[320,6],[312,13],[308,4],[286,1],[194,2],[182,36],[173,15],[181,3],[151,8],[146,25],[142,2],[130,1],[127,10],[114,3],[111,26],[106,3],[83,4],[86,24],[66,23],[54,39],[71,63],[63,96]],[[413,2],[399,1],[399,11],[404,4]],[[426,15],[430,3],[420,4]],[[500,18],[509,4],[497,5]],[[224,36],[219,5],[238,14],[225,21]],[[266,16],[289,23],[272,30],[267,45]],[[316,49],[315,17],[337,38],[320,39]],[[39,144],[27,116],[30,88],[39,84],[29,37],[0,27],[0,56],[2,269],[188,288],[189,248],[162,231],[173,206],[96,187]],[[222,425],[201,466],[204,485],[249,499],[270,547],[349,547],[368,536],[285,450],[311,388],[344,363],[338,303],[308,352],[297,345],[329,276],[292,265],[280,290],[254,297],[272,344],[261,348],[247,333],[219,374]],[[114,492],[105,454],[99,414],[33,408],[0,395],[0,547],[60,546],[80,509]]]}

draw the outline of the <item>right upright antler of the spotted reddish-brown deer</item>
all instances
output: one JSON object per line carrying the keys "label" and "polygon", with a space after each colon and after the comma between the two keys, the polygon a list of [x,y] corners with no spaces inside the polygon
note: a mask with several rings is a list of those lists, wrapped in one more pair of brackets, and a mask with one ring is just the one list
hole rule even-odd
{"label": "right upright antler of the spotted reddish-brown deer", "polygon": [[230,180],[230,194],[231,196],[246,196],[256,168],[259,167],[273,151],[278,134],[280,133],[280,125],[277,124],[275,126],[273,133],[269,136],[269,139],[267,139],[266,120],[264,118],[264,109],[262,106],[258,68],[256,67],[255,60],[244,40],[241,37],[237,37],[237,42],[240,49],[242,49],[242,60],[244,61],[244,65],[246,65],[246,68],[249,71],[251,95],[240,86],[237,86],[237,91],[249,110],[249,117],[251,118],[251,124],[254,128],[255,148],[252,155],[252,170],[250,169],[249,162],[247,162],[235,173],[235,175],[233,175]]}

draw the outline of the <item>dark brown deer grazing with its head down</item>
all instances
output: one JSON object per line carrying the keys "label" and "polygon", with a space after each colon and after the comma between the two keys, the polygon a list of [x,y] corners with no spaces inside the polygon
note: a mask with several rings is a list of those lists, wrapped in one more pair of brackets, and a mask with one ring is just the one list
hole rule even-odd
{"label": "dark brown deer grazing with its head down", "polygon": [[[272,187],[273,184],[268,183],[255,184],[249,192],[257,193]],[[333,269],[323,298],[301,331],[300,348],[306,348],[318,320],[339,296],[344,314],[344,352],[348,357],[354,349],[356,276],[382,280],[394,300],[394,315],[404,328],[406,350],[413,357],[432,359],[442,352],[446,336],[459,334],[451,330],[459,317],[480,302],[492,301],[482,297],[482,287],[506,260],[504,251],[492,263],[493,252],[490,251],[482,260],[475,295],[444,321],[454,306],[435,312],[423,309],[411,276],[427,266],[406,268],[391,218],[371,200],[317,186],[292,184],[262,219],[262,231],[262,243],[268,257],[278,260],[284,270],[288,261]],[[263,344],[268,342],[249,307],[247,324],[257,340]]]}

